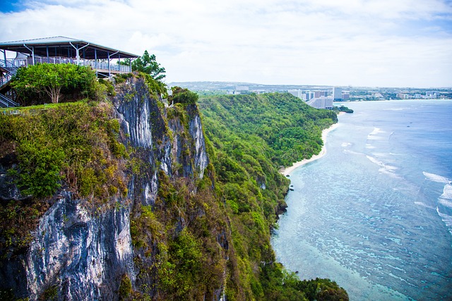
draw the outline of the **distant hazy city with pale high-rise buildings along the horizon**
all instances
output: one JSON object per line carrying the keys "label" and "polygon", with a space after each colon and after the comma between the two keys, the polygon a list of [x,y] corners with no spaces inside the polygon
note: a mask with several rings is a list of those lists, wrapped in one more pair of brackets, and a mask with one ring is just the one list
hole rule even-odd
{"label": "distant hazy city with pale high-rise buildings along the horizon", "polygon": [[251,94],[289,92],[318,109],[331,109],[333,102],[391,99],[452,99],[452,87],[439,89],[394,87],[331,87],[314,85],[258,85],[244,82],[171,82],[199,94]]}

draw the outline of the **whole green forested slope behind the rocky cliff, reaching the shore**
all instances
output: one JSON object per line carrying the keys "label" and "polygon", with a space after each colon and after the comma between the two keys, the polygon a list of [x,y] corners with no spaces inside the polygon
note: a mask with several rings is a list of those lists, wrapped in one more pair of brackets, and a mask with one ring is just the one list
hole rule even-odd
{"label": "whole green forested slope behind the rocky cliff, reaching the shore", "polygon": [[[337,121],[332,111],[307,106],[290,94],[201,97],[209,157],[225,202],[234,256],[227,278],[228,300],[348,300],[328,279],[306,283],[275,263],[270,228],[285,207],[289,180],[281,165],[309,158],[322,146],[321,130]],[[321,299],[323,290],[345,294]]]}

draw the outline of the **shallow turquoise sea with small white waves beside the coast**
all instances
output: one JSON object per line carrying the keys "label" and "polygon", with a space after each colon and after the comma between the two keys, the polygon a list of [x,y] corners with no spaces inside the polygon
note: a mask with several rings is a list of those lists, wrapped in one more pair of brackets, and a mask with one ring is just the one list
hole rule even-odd
{"label": "shallow turquoise sea with small white waves beside the coast", "polygon": [[452,300],[452,102],[346,105],[326,155],[290,175],[278,261],[350,300]]}

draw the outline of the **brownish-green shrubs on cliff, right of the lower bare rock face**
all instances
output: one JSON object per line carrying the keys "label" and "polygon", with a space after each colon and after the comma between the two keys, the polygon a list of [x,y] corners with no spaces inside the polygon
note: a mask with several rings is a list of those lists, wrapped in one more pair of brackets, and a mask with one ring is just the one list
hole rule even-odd
{"label": "brownish-green shrubs on cliff, right of the lower bare rock face", "polygon": [[[224,207],[212,190],[213,166],[208,166],[202,179],[196,173],[183,176],[184,166],[194,160],[189,121],[196,113],[191,104],[167,108],[165,122],[177,125],[177,132],[166,128],[167,135],[179,141],[180,163],[174,161],[173,177],[158,171],[155,204],[138,205],[131,214],[134,261],[139,269],[137,299],[156,290],[159,300],[199,300],[201,296],[212,300],[215,289],[224,282],[227,250],[218,244],[218,238],[227,241],[230,237]],[[162,143],[157,141],[156,148]]]}

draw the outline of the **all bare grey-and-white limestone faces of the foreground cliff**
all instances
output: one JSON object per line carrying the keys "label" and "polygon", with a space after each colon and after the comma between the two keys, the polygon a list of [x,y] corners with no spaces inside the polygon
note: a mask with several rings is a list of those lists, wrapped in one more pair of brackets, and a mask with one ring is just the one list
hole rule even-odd
{"label": "all bare grey-and-white limestone faces of the foreground cliff", "polygon": [[[168,178],[203,178],[208,155],[196,105],[186,107],[188,121],[168,118],[162,99],[149,92],[145,80],[133,77],[117,87],[112,104],[113,117],[121,128],[119,142],[135,149],[133,156],[144,162],[139,173],[129,172],[128,195],[110,200],[116,204],[113,207],[95,210],[89,199],[59,190],[59,197],[54,197],[55,202],[32,231],[26,252],[1,260],[0,290],[30,300],[49,293],[54,293],[55,300],[118,300],[124,274],[139,289],[134,258],[144,256],[133,247],[133,208],[155,203],[160,171]],[[0,166],[0,171],[2,199],[23,197],[4,180],[6,168]],[[183,228],[183,215],[180,221]],[[218,240],[227,250],[224,231]],[[149,285],[152,282],[148,279]],[[215,294],[220,299],[222,284]]]}

